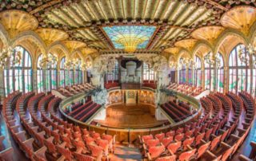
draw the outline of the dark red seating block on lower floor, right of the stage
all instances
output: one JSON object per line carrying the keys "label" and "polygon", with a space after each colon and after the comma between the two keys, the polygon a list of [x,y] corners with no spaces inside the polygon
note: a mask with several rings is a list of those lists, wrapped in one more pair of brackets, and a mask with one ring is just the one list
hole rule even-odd
{"label": "dark red seating block on lower floor, right of the stage", "polygon": [[[184,104],[184,103],[183,103]],[[175,122],[186,119],[191,116],[189,109],[184,106],[180,106],[173,101],[166,102],[160,106]]]}

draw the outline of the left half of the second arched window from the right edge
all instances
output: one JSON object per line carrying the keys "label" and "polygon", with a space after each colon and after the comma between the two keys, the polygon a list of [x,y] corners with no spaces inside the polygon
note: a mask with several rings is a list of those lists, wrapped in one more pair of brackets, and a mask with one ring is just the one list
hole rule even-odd
{"label": "left half of the second arched window from the right edge", "polygon": [[[206,57],[212,53],[208,53]],[[210,65],[207,63],[206,59],[204,61],[205,65],[205,88],[213,90],[215,81],[214,81],[214,65]]]}

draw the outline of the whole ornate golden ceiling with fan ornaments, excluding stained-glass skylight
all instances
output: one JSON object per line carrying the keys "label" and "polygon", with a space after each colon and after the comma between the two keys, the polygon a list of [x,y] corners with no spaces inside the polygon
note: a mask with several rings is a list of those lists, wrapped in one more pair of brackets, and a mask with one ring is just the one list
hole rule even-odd
{"label": "whole ornate golden ceiling with fan ornaments, excluding stained-glass skylight", "polygon": [[252,0],[6,0],[0,22],[11,37],[35,30],[46,45],[62,41],[70,52],[100,54],[124,53],[105,27],[155,26],[145,49],[136,52],[178,53],[198,40],[212,43],[224,27],[245,32],[255,21],[255,6]]}

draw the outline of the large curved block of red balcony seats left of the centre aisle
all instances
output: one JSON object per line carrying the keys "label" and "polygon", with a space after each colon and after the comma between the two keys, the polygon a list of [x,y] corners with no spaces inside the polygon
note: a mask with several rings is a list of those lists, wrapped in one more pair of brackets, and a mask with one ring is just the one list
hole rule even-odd
{"label": "large curved block of red balcony seats left of the centre aisle", "polygon": [[[7,96],[3,107],[6,124],[26,157],[42,161],[108,158],[109,152],[114,151],[114,137],[61,120],[54,112],[59,103],[59,98],[44,93],[14,92]],[[13,160],[10,154],[0,157]]]}

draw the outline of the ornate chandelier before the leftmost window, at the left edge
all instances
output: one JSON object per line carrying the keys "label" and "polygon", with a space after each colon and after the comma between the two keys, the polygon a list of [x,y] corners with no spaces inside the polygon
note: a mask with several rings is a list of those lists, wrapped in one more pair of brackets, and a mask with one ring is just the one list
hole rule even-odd
{"label": "ornate chandelier before the leftmost window, at the left edge", "polygon": [[3,49],[0,53],[0,68],[3,69],[6,65],[13,66],[20,64],[22,61],[22,53],[16,49]]}

